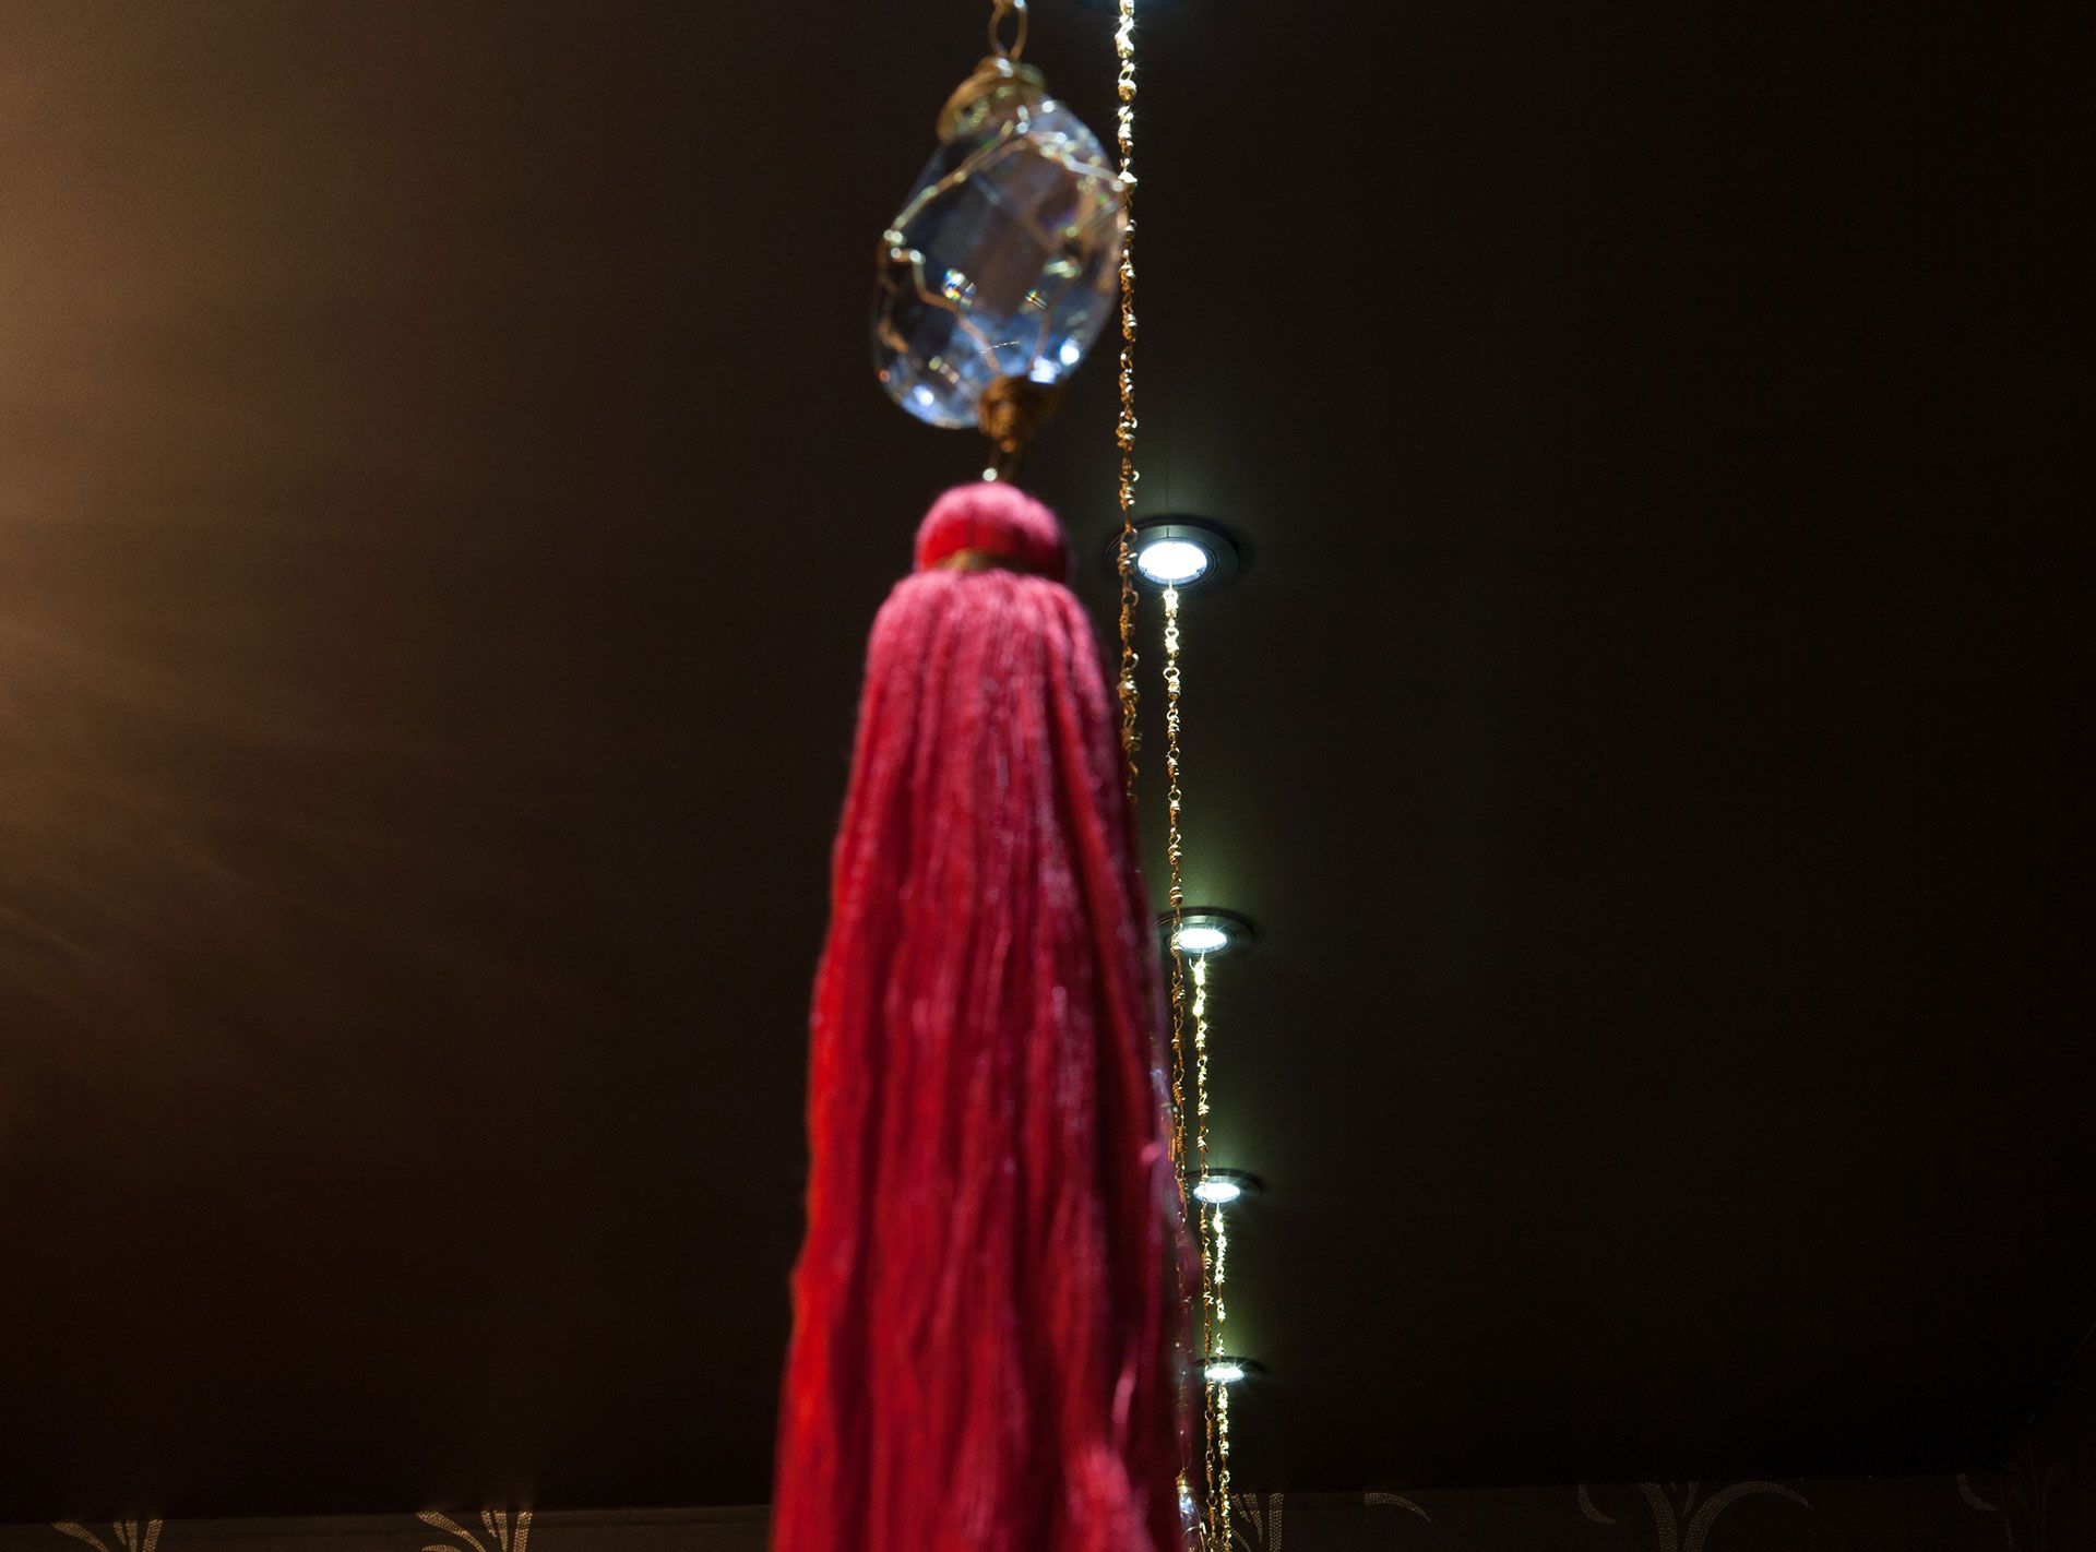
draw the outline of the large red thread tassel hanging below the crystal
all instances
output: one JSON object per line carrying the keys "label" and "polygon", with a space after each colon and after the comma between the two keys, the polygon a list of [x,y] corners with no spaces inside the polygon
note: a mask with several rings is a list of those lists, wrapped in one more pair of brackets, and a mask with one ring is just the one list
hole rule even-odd
{"label": "large red thread tassel hanging below the crystal", "polygon": [[949,490],[874,622],[809,1060],[776,1552],[1180,1548],[1157,972],[1054,515]]}

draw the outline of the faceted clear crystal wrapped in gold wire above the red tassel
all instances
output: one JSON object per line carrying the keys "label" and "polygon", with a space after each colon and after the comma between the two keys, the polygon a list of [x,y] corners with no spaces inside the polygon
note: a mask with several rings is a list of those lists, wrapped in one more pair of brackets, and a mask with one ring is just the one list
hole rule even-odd
{"label": "faceted clear crystal wrapped in gold wire above the red tassel", "polygon": [[1056,383],[1115,308],[1121,180],[1038,71],[989,59],[880,243],[874,369],[933,425],[975,425],[1000,377]]}

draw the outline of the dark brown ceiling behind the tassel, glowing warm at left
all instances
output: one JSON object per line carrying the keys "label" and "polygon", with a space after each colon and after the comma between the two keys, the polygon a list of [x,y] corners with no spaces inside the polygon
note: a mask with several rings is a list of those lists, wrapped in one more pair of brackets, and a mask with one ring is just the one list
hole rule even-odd
{"label": "dark brown ceiling behind the tassel, glowing warm at left", "polygon": [[[0,10],[0,1518],[767,1495],[983,15]],[[1144,31],[1241,1483],[1985,1466],[2096,1317],[2092,31]]]}

